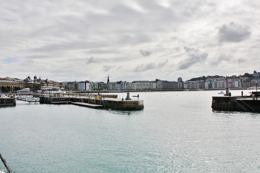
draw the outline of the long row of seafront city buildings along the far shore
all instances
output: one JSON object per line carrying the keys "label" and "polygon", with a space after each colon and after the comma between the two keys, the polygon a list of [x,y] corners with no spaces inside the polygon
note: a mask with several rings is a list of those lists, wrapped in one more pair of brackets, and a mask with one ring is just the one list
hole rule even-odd
{"label": "long row of seafront city buildings along the far shore", "polygon": [[[257,83],[258,82],[258,83]],[[260,79],[254,75],[254,78],[248,77],[233,77],[228,78],[229,88],[249,88],[260,85]],[[15,91],[23,88],[30,88],[31,91],[38,91],[41,87],[60,87],[64,90],[89,90],[89,91],[103,91],[103,90],[160,90],[160,89],[222,89],[227,86],[226,78],[205,78],[203,80],[183,81],[181,77],[177,81],[167,81],[155,79],[154,81],[136,80],[132,82],[117,81],[110,82],[109,77],[107,82],[93,82],[90,80],[73,81],[73,82],[56,82],[48,79],[37,78],[36,75],[33,79],[30,76],[22,79],[17,78],[0,78],[0,87],[7,87],[10,91]]]}

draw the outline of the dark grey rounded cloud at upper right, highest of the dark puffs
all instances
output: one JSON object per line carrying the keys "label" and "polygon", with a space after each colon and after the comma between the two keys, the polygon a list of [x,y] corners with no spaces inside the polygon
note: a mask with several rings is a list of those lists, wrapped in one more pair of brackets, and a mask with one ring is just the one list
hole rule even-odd
{"label": "dark grey rounded cloud at upper right, highest of the dark puffs", "polygon": [[247,25],[239,25],[230,22],[229,25],[218,27],[219,42],[240,42],[250,38],[252,32]]}

